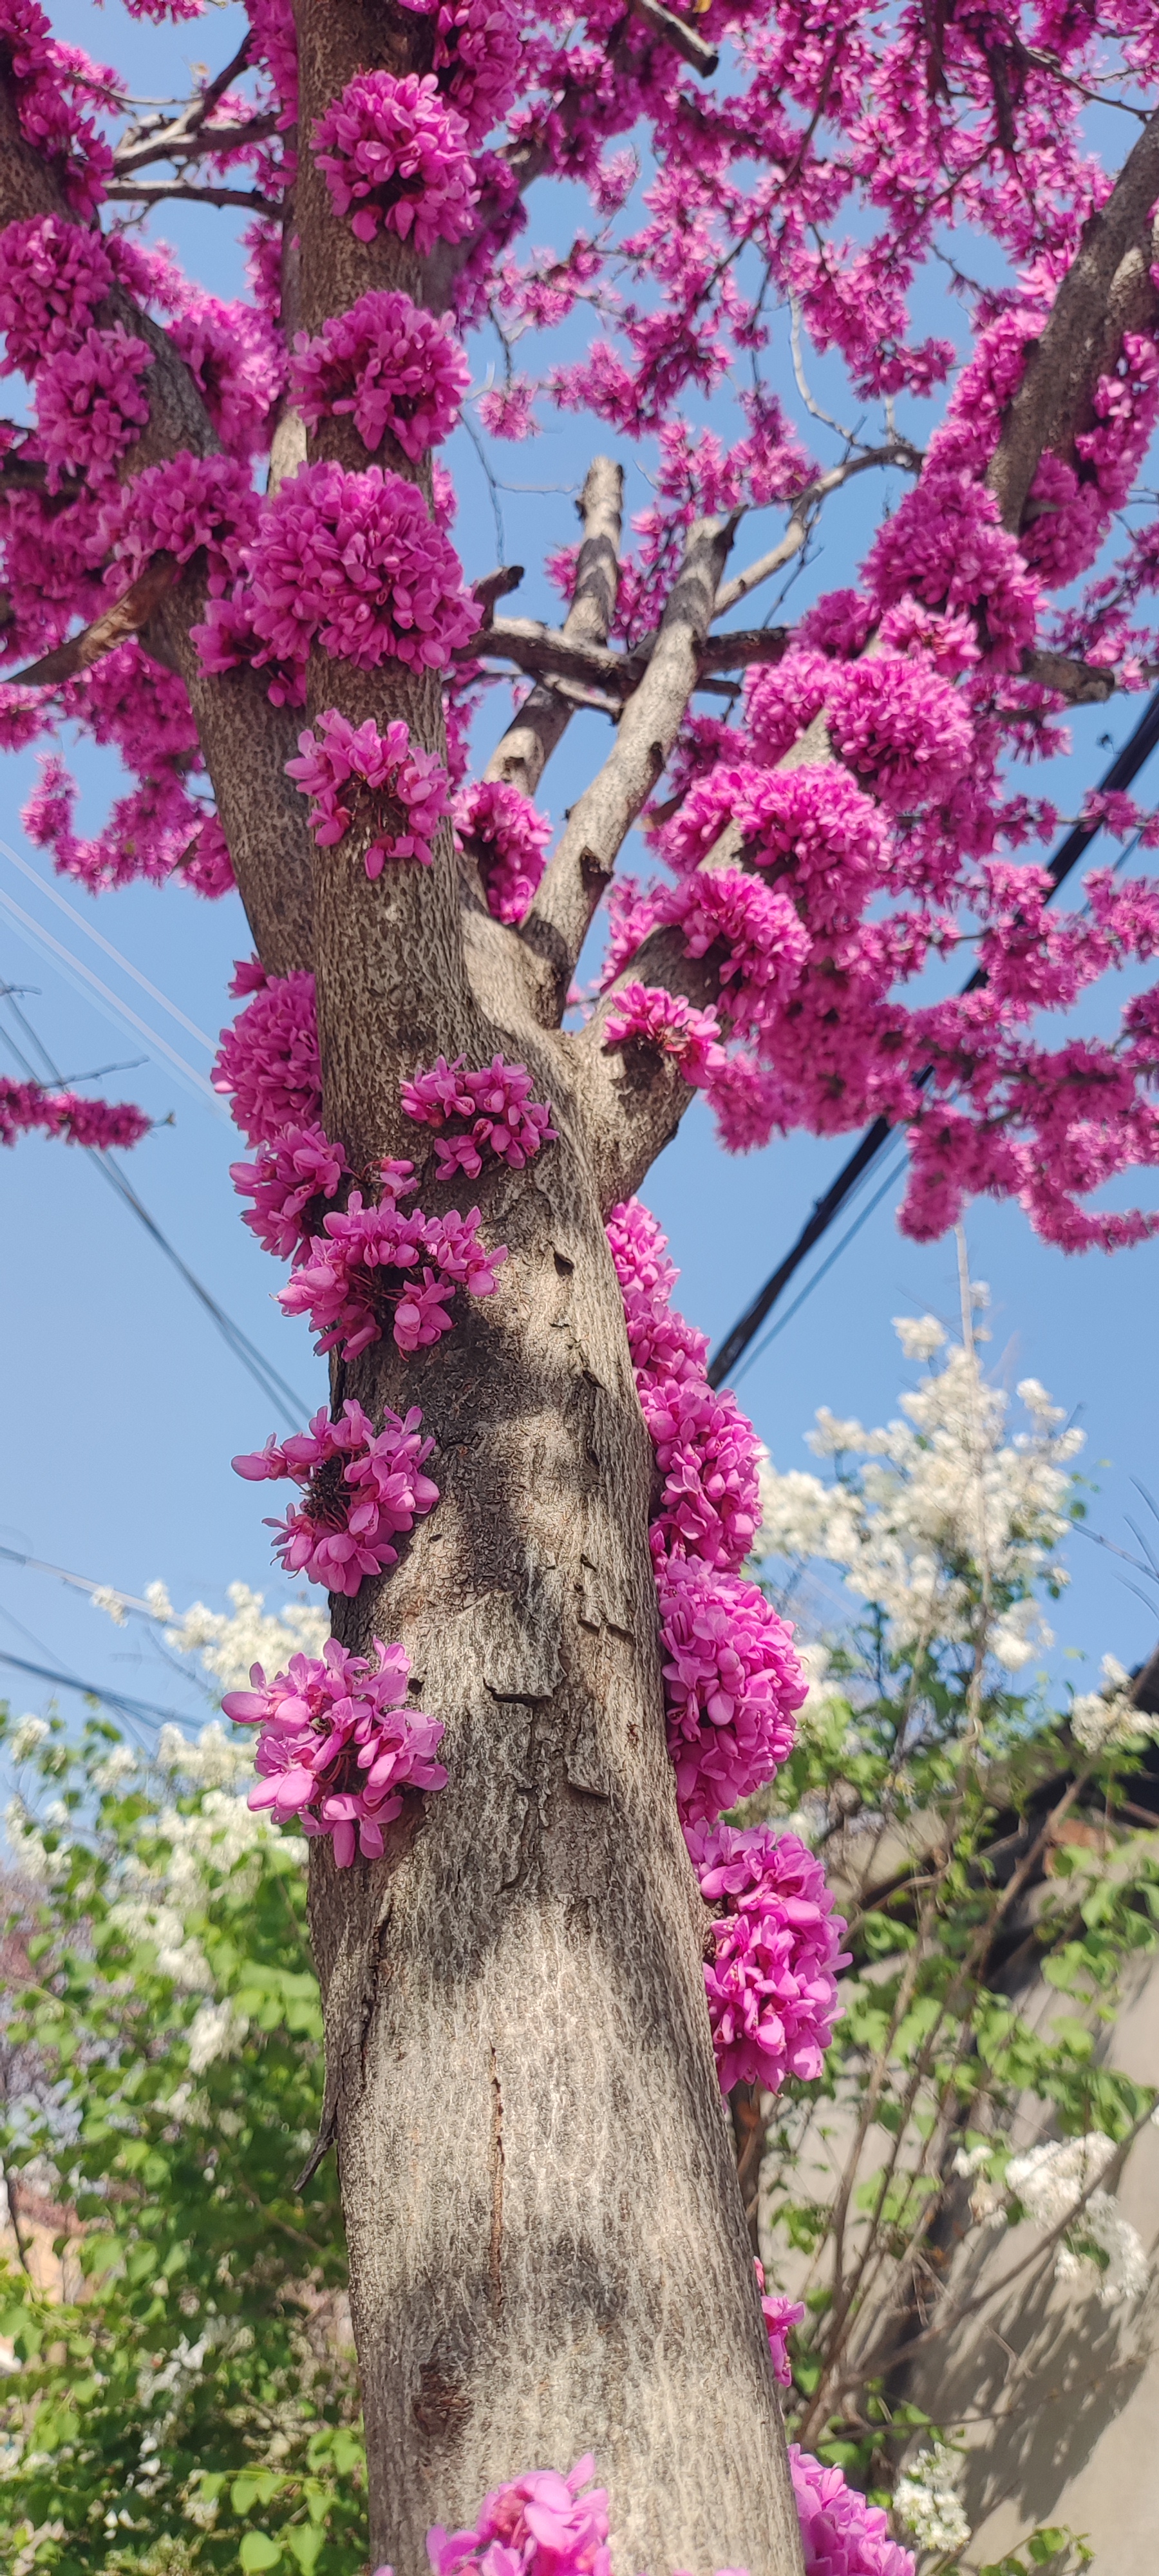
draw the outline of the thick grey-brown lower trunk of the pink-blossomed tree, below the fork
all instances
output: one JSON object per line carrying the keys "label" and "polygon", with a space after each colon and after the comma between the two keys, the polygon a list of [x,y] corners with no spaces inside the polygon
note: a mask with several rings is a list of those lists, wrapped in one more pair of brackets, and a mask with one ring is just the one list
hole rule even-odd
{"label": "thick grey-brown lower trunk of the pink-blossomed tree, below the fork", "polygon": [[376,1865],[312,1850],[373,2563],[592,2447],[618,2566],[798,2568],[778,2398],[664,1747],[652,1453],[600,1211],[561,1141],[500,1175],[500,1291],[435,1355],[440,1504],[332,1602],[402,1636],[448,1788]]}

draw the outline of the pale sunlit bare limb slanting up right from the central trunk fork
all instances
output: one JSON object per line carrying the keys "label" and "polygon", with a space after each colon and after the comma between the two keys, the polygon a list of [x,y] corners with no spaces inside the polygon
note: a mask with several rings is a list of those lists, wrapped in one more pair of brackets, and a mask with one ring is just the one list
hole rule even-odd
{"label": "pale sunlit bare limb slanting up right from the central trunk fork", "polygon": [[559,1025],[592,912],[616,868],[623,835],[657,786],[701,670],[719,580],[737,520],[701,518],[646,672],[626,701],[616,744],[567,817],[564,837],[523,925],[523,940],[546,966],[543,1018]]}

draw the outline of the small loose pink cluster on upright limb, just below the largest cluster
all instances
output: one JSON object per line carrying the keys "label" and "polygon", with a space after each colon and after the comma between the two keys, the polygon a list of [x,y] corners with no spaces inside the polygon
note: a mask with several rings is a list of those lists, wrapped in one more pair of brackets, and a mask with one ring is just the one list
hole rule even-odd
{"label": "small loose pink cluster on upright limb, just below the largest cluster", "polygon": [[319,848],[330,850],[368,817],[366,876],[381,876],[386,858],[417,858],[430,868],[448,809],[448,775],[435,752],[410,739],[402,719],[379,734],[373,716],[355,729],[327,706],[317,734],[299,734],[299,755],[286,760],[286,775],[314,799],[309,827]]}

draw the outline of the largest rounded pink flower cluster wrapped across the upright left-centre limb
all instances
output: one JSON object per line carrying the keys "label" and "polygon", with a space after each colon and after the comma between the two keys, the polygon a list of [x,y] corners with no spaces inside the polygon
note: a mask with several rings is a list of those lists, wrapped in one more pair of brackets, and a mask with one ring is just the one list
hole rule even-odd
{"label": "largest rounded pink flower cluster wrapped across the upright left-centre limb", "polygon": [[381,466],[291,474],[260,515],[250,585],[252,629],[288,665],[317,636],[358,670],[448,670],[482,618],[422,492]]}

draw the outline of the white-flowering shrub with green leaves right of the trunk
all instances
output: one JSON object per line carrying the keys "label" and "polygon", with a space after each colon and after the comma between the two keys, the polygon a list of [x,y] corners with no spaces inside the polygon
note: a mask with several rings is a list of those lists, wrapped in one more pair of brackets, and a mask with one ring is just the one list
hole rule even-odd
{"label": "white-flowering shrub with green leaves right of the trunk", "polygon": [[[824,1850],[853,1965],[824,2087],[731,2097],[755,2244],[798,2298],[791,2427],[894,2491],[930,2568],[971,2543],[958,2427],[927,2414],[968,2321],[1002,2329],[1051,2269],[1110,2308],[1149,2282],[1115,2182],[1154,2092],[1097,2040],[1156,1945],[1133,1777],[1154,1721],[1110,1656],[1064,1716],[1028,1677],[1066,1582],[1082,1435],[1033,1378],[1012,1427],[979,1360],[984,1303],[963,1262],[961,1340],[896,1321],[922,1363],[899,1419],[822,1412],[829,1473],[762,1476],[778,1600],[816,1600],[840,1569],[850,1607],[811,1651],[796,1754],[747,1814]],[[1010,2262],[956,2264],[971,2231],[1020,2221]],[[1033,2401],[1017,2365],[1004,2403]],[[1087,2555],[1046,2532],[1030,2563]]]}

